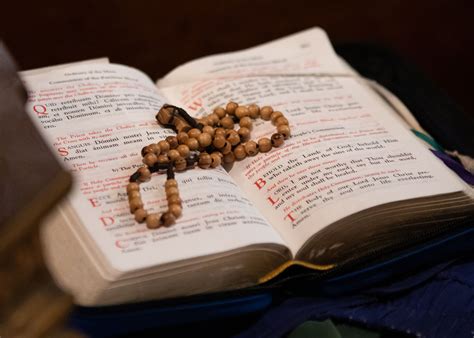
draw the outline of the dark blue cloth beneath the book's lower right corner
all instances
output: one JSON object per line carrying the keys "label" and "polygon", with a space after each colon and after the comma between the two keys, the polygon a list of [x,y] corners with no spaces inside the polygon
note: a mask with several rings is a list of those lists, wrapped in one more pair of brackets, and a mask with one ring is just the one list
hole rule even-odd
{"label": "dark blue cloth beneath the book's lower right corner", "polygon": [[281,337],[327,318],[416,337],[474,335],[474,259],[448,262],[342,298],[298,297],[268,311],[238,337]]}

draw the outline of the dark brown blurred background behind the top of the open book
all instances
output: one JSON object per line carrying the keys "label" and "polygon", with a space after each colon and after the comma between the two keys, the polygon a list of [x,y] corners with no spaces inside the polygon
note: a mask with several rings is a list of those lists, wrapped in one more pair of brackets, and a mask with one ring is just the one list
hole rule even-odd
{"label": "dark brown blurred background behind the top of the open book", "polygon": [[0,37],[22,69],[108,56],[157,79],[193,58],[321,26],[389,47],[474,115],[473,1],[11,1]]}

